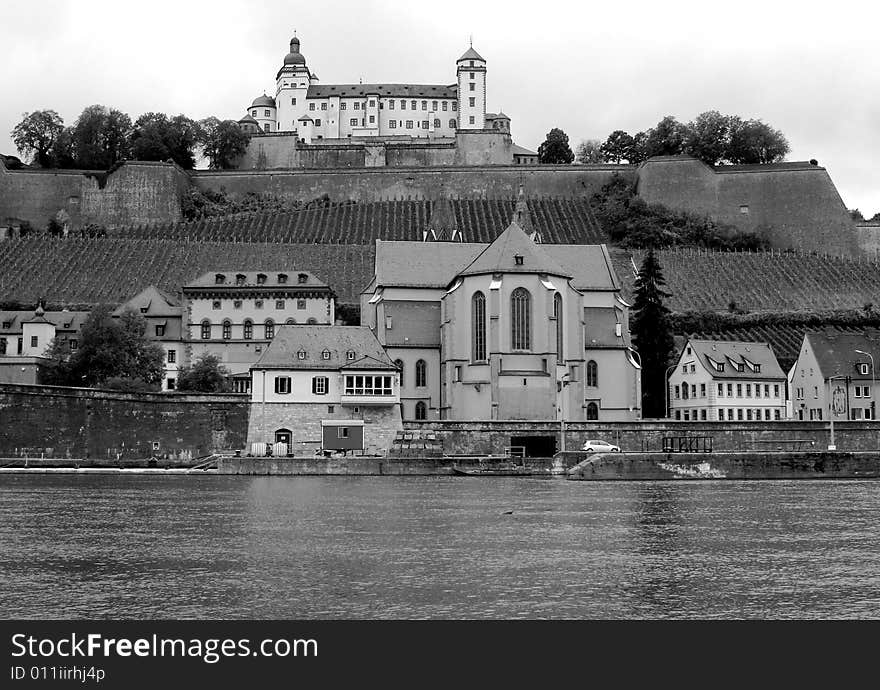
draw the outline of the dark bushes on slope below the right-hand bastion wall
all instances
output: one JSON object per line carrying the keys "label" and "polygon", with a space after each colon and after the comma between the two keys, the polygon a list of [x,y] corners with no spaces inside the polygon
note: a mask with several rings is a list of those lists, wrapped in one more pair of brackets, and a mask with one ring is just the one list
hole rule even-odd
{"label": "dark bushes on slope below the right-hand bastion wall", "polygon": [[635,185],[616,173],[590,198],[590,204],[611,242],[627,249],[689,246],[734,251],[770,246],[755,233],[740,232],[708,216],[648,204],[636,194]]}

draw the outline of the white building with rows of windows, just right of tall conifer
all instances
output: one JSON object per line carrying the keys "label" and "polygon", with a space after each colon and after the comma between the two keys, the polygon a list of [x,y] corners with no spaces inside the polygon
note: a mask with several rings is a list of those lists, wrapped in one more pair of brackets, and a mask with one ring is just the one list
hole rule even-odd
{"label": "white building with rows of windows, just right of tall conifer", "polygon": [[767,343],[690,339],[669,376],[669,416],[683,421],[784,419],[786,381]]}

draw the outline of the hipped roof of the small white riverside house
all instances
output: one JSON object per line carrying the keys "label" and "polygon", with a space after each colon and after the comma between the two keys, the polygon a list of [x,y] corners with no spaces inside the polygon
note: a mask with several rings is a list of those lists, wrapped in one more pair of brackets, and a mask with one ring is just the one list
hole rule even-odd
{"label": "hipped roof of the small white riverside house", "polygon": [[[300,353],[305,354],[302,359]],[[367,326],[297,325],[281,326],[251,369],[375,371],[395,366]]]}

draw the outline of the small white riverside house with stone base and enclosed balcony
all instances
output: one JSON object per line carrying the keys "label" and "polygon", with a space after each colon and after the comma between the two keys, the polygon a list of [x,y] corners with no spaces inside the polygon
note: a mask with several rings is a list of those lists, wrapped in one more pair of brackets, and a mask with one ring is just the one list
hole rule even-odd
{"label": "small white riverside house with stone base and enclosed balcony", "polygon": [[325,443],[330,428],[339,440],[362,434],[352,449],[383,454],[403,428],[398,372],[368,328],[282,326],[250,373],[249,447],[345,447]]}

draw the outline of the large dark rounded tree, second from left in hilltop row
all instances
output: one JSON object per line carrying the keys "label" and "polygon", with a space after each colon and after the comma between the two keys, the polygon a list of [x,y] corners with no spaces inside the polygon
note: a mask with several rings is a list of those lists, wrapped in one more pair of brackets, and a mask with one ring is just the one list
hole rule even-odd
{"label": "large dark rounded tree, second from left in hilltop row", "polygon": [[90,105],[73,126],[73,152],[78,167],[107,170],[129,155],[131,118],[103,105]]}

